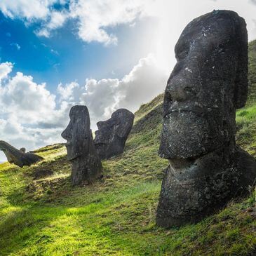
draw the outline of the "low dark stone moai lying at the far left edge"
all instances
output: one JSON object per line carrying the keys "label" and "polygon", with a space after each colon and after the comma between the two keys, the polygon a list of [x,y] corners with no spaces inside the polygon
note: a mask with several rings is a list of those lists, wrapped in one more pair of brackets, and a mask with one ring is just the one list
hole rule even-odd
{"label": "low dark stone moai lying at the far left edge", "polygon": [[22,150],[15,149],[11,144],[0,140],[0,150],[4,151],[9,163],[14,163],[16,166],[31,166],[32,163],[41,161],[43,158],[32,153],[25,153]]}

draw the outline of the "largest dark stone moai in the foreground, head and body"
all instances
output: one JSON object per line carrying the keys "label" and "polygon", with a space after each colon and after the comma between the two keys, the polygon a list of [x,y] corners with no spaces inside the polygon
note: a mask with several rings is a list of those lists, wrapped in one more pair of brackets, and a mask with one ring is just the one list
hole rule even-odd
{"label": "largest dark stone moai in the foreground, head and body", "polygon": [[233,11],[191,21],[175,46],[159,156],[168,159],[156,222],[196,222],[255,182],[255,159],[236,146],[236,109],[248,91],[248,35]]}

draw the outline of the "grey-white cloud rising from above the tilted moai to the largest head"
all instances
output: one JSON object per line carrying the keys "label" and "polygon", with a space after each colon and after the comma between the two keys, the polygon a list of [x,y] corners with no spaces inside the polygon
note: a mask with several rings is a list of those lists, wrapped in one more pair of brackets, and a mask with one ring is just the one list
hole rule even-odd
{"label": "grey-white cloud rising from above the tilted moai to the largest head", "polygon": [[86,80],[86,92],[80,100],[88,105],[93,119],[106,119],[120,107],[135,112],[142,103],[163,92],[167,79],[168,73],[158,67],[153,55],[149,55],[123,79]]}

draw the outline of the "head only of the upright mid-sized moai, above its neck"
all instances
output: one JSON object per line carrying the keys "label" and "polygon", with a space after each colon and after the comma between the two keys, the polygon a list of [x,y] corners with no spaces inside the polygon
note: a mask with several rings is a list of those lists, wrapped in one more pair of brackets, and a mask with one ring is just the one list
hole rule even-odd
{"label": "head only of the upright mid-sized moai, above its neck", "polygon": [[92,138],[90,116],[86,106],[72,107],[69,117],[69,124],[61,135],[67,140],[67,159],[71,161],[88,154]]}

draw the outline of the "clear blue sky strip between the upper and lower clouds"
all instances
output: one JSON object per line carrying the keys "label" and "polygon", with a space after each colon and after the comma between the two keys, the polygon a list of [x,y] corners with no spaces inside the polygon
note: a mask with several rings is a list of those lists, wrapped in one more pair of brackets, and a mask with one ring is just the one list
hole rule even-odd
{"label": "clear blue sky strip between the upper and lower clouds", "polygon": [[140,39],[149,37],[148,22],[154,27],[153,18],[137,22],[136,29],[119,25],[114,29],[119,45],[102,46],[99,42],[79,39],[74,22],[67,22],[47,38],[36,36],[37,24],[26,26],[22,20],[13,20],[3,13],[0,13],[0,20],[1,62],[15,63],[13,73],[19,71],[33,76],[37,83],[46,82],[52,92],[58,83],[84,83],[86,78],[120,79],[141,56],[149,53]]}

